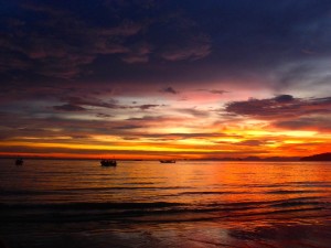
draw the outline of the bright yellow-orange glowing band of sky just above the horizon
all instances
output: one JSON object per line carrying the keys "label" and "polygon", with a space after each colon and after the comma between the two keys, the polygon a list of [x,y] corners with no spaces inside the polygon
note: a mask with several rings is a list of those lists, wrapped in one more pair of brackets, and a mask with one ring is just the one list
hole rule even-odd
{"label": "bright yellow-orange glowing band of sky just above the horizon", "polygon": [[[120,121],[116,127],[122,125],[124,122]],[[331,138],[329,133],[281,130],[276,129],[267,121],[244,118],[221,122],[216,117],[213,120],[204,121],[201,118],[174,118],[171,116],[164,122],[151,118],[145,126],[137,125],[137,127],[140,126],[142,128],[139,130],[119,129],[109,134],[93,133],[93,128],[73,133],[73,137],[75,134],[79,137],[83,133],[82,139],[72,138],[72,130],[50,127],[49,133],[55,134],[54,137],[38,137],[32,133],[26,136],[24,133],[24,137],[17,136],[4,140],[0,147],[3,148],[2,150],[9,147],[15,147],[15,150],[23,148],[23,151],[31,149],[32,154],[39,151],[41,153],[67,152],[67,157],[82,153],[84,158],[94,158],[96,153],[117,153],[121,154],[120,158],[143,158],[143,154],[148,158],[163,154],[183,158],[244,158],[249,155],[263,158],[296,157],[328,151],[330,149],[328,141]],[[92,133],[88,133],[88,130]]]}

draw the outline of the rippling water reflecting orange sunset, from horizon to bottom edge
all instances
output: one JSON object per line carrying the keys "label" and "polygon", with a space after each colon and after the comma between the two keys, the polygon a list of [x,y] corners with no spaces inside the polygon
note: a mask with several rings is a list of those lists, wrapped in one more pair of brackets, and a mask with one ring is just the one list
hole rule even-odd
{"label": "rippling water reflecting orange sunset, from horizon to bottom edge", "polygon": [[0,223],[8,248],[327,248],[331,163],[0,160]]}

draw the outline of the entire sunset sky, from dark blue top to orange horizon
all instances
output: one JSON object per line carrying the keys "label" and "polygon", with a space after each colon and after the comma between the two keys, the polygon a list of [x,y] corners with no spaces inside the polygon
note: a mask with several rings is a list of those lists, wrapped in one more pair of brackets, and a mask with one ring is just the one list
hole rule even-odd
{"label": "entire sunset sky, from dark blue top to orange horizon", "polygon": [[0,3],[0,155],[331,151],[330,0]]}

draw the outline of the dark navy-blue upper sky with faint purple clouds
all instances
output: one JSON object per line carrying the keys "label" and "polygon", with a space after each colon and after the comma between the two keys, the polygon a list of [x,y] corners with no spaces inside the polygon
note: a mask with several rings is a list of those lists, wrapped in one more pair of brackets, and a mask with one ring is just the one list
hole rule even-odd
{"label": "dark navy-blue upper sky with faint purple clouds", "polygon": [[284,67],[301,77],[330,56],[330,10],[323,0],[8,1],[0,69],[38,84],[182,84]]}

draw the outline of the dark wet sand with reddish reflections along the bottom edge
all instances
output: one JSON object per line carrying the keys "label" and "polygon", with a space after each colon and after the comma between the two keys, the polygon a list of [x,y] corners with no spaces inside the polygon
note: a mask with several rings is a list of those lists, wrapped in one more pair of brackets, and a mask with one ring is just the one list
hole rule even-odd
{"label": "dark wet sand with reddish reflections along the bottom edge", "polygon": [[[76,224],[75,224],[76,225]],[[231,225],[231,224],[228,224]],[[31,228],[25,234],[2,237],[8,248],[214,248],[274,247],[328,248],[331,244],[331,222],[323,224],[255,226],[242,228],[203,225],[170,224],[157,226],[126,225],[120,229],[86,227],[70,230],[71,226],[47,226],[39,234]],[[24,227],[26,228],[26,227]],[[36,230],[36,229],[35,229]],[[62,231],[60,231],[62,230]],[[0,246],[1,247],[1,246]]]}

